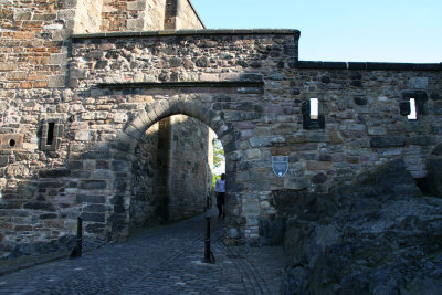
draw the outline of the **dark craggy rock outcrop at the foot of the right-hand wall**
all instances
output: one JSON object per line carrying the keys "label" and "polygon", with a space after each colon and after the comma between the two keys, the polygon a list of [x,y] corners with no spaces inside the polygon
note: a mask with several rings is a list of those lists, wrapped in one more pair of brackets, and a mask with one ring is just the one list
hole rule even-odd
{"label": "dark craggy rock outcrop at the foot of the right-hand wall", "polygon": [[403,168],[392,161],[329,194],[275,192],[293,257],[284,294],[442,292],[442,202],[417,196]]}

